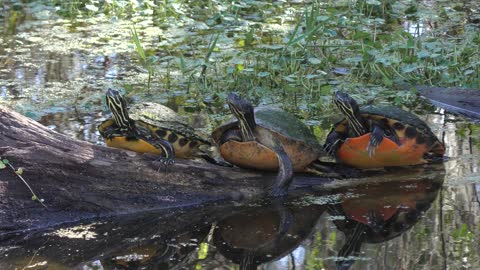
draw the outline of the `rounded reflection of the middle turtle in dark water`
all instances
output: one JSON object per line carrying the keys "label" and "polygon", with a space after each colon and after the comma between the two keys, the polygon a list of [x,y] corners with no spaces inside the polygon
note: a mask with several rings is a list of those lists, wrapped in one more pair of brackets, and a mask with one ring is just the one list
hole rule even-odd
{"label": "rounded reflection of the middle turtle in dark water", "polygon": [[323,205],[249,207],[217,223],[213,244],[240,269],[279,259],[297,248],[312,232],[325,211]]}

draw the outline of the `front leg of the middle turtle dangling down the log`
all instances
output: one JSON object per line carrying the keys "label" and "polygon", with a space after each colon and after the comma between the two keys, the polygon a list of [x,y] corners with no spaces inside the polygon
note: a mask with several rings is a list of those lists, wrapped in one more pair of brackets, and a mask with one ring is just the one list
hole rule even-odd
{"label": "front leg of the middle turtle dangling down the log", "polygon": [[267,188],[270,197],[285,196],[293,180],[293,164],[282,142],[269,131],[257,132],[258,141],[272,150],[278,158],[278,173],[275,182]]}

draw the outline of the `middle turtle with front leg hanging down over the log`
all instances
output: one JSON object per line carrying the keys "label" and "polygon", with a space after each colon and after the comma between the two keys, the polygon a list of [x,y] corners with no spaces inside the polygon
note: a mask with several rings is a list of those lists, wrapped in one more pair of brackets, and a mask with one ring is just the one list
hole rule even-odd
{"label": "middle turtle with front leg hanging down over the log", "polygon": [[220,154],[239,167],[278,171],[267,194],[286,195],[293,172],[305,171],[322,155],[317,138],[302,121],[281,109],[254,110],[235,92],[226,101],[235,117],[212,132]]}

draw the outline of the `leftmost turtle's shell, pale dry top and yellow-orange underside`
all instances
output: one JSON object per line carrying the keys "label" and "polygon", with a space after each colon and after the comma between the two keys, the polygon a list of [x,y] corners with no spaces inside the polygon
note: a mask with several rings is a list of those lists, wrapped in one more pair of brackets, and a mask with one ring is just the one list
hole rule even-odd
{"label": "leftmost turtle's shell, pale dry top and yellow-orange underside", "polygon": [[[172,109],[158,103],[146,102],[134,104],[129,109],[129,116],[135,121],[138,132],[155,134],[172,143],[177,157],[192,157],[202,144],[210,143],[195,133],[195,130]],[[112,118],[105,120],[100,126],[100,134],[115,129]],[[131,139],[127,134],[116,130],[111,138],[105,138],[109,147],[127,149],[140,153],[161,154],[160,150],[142,139]]]}

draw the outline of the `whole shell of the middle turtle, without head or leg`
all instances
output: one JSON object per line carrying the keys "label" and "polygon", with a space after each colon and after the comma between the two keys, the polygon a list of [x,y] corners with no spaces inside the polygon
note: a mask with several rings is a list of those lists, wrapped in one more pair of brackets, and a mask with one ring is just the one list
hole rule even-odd
{"label": "whole shell of the middle turtle, without head or leg", "polygon": [[[274,134],[290,157],[294,171],[303,171],[323,152],[317,138],[295,116],[272,107],[255,109],[256,129],[265,129]],[[222,141],[225,132],[238,129],[236,118],[217,127],[212,138],[219,146],[222,157],[239,167],[261,170],[278,170],[276,154],[257,141]]]}

